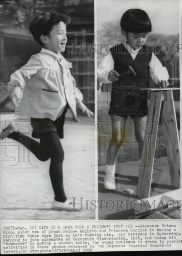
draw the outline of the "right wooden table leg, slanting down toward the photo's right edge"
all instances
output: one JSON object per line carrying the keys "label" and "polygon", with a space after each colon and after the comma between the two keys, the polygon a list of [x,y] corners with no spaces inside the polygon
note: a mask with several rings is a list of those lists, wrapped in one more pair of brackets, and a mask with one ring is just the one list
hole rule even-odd
{"label": "right wooden table leg, slanting down toward the photo's right edge", "polygon": [[161,116],[165,124],[164,140],[170,169],[172,186],[180,188],[180,141],[172,90],[166,92]]}

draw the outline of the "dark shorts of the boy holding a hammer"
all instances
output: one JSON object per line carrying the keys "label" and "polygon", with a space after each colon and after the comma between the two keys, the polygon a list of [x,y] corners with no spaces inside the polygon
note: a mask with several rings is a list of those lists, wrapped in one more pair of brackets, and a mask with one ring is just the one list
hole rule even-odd
{"label": "dark shorts of the boy holding a hammer", "polygon": [[121,116],[123,118],[127,118],[128,116],[131,118],[147,116],[147,91],[137,91],[135,91],[133,95],[126,94],[124,90],[121,90],[120,94],[112,94],[108,114]]}

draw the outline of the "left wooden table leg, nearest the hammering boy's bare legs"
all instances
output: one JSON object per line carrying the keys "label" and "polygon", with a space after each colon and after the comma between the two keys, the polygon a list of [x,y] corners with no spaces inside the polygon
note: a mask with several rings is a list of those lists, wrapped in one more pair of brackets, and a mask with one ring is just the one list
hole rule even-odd
{"label": "left wooden table leg, nearest the hammering boy's bare legs", "polygon": [[154,155],[156,150],[156,138],[158,132],[158,125],[156,124],[159,122],[162,96],[162,91],[151,92],[150,96],[149,112],[147,118],[148,128],[146,131],[146,148],[144,146],[136,191],[137,196],[140,198],[150,197]]}

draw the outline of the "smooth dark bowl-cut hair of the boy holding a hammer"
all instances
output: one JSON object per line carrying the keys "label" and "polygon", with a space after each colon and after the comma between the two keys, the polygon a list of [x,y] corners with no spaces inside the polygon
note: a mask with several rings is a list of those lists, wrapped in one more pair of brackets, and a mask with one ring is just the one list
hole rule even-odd
{"label": "smooth dark bowl-cut hair of the boy holding a hammer", "polygon": [[126,11],[120,21],[120,26],[125,32],[147,33],[152,31],[152,24],[148,14],[140,9]]}

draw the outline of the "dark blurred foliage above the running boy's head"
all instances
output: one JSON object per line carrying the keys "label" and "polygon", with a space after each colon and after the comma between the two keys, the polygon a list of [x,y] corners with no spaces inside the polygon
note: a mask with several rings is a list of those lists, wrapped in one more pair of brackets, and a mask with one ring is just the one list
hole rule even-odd
{"label": "dark blurred foliage above the running boy's head", "polygon": [[[2,0],[0,26],[28,29],[40,12],[63,12],[72,17],[72,25],[94,24],[93,0]],[[78,29],[77,29],[78,30]]]}

